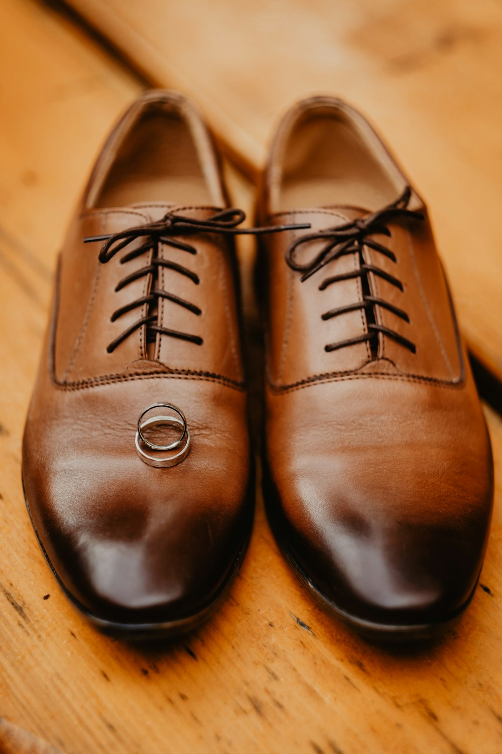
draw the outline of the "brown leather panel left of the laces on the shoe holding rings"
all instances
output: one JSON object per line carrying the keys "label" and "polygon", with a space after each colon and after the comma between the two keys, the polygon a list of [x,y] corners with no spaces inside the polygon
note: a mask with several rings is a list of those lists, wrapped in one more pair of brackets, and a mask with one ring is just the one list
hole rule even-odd
{"label": "brown leather panel left of the laces on the shoe holding rings", "polygon": [[84,244],[84,237],[111,234],[124,225],[139,225],[148,215],[136,210],[94,211],[83,216],[76,235],[68,239],[62,254],[59,303],[56,314],[55,376],[59,382],[81,382],[124,372],[145,356],[145,327],[136,329],[113,352],[107,348],[136,320],[145,316],[146,305],[134,308],[114,322],[114,311],[148,292],[149,276],[117,291],[120,280],[151,262],[151,252],[121,264],[126,253],[141,245],[137,239],[105,264],[98,260],[99,242]]}

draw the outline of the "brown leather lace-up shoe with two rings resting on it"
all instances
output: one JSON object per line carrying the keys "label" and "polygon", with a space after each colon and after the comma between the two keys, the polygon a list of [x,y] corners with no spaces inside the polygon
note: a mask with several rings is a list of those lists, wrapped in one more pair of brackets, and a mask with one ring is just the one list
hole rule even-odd
{"label": "brown leather lace-up shoe with two rings resting on it", "polygon": [[[150,92],[111,133],[62,249],[23,481],[59,584],[107,633],[198,624],[250,535],[236,259],[223,235],[242,213],[224,207],[199,112]],[[145,413],[141,440],[138,419],[159,403],[172,405]]]}

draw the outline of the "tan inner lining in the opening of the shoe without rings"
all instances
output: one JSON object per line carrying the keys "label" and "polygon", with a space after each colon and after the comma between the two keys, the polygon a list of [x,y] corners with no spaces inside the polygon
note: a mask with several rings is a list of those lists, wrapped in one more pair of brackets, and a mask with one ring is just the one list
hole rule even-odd
{"label": "tan inner lining in the opening of the shoe without rings", "polygon": [[405,185],[373,131],[333,106],[297,117],[281,153],[273,211],[330,205],[374,211],[394,201]]}

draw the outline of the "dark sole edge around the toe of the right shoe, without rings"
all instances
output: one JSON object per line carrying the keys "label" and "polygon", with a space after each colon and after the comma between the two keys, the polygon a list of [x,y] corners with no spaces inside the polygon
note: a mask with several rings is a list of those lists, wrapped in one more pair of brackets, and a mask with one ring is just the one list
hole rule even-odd
{"label": "dark sole edge around the toe of the right shoe, without rings", "polygon": [[430,621],[423,624],[382,624],[374,621],[365,621],[359,618],[357,615],[351,615],[347,611],[343,610],[336,605],[328,596],[326,596],[322,590],[312,581],[312,578],[305,572],[303,567],[297,561],[288,545],[288,541],[284,538],[284,523],[281,522],[281,516],[277,513],[276,508],[278,503],[275,502],[276,495],[272,490],[272,483],[269,478],[269,472],[266,467],[266,460],[263,459],[263,499],[265,501],[265,509],[267,519],[269,521],[270,529],[274,535],[275,541],[278,544],[284,559],[288,562],[289,566],[293,570],[294,574],[299,578],[306,590],[315,599],[315,602],[327,612],[332,618],[336,618],[342,624],[354,630],[364,639],[369,639],[374,642],[385,642],[394,644],[405,644],[407,642],[424,642],[434,641],[443,636],[446,631],[452,629],[455,624],[458,623],[461,615],[467,609],[476,592],[476,587],[479,581],[479,575],[474,584],[473,590],[470,593],[467,600],[458,608],[455,613],[447,615],[441,621]]}

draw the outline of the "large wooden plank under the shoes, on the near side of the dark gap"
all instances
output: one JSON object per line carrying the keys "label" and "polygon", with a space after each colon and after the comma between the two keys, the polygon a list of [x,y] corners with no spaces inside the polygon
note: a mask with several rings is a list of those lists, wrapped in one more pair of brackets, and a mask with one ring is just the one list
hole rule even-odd
{"label": "large wooden plank under the shoes, on the near side of the dark gap", "polygon": [[[389,652],[327,618],[279,555],[260,494],[230,597],[196,633],[128,645],[100,636],[68,605],[24,507],[23,422],[68,212],[139,85],[31,0],[2,0],[2,17],[0,752],[15,725],[16,754],[38,752],[22,731],[61,754],[499,754],[502,421],[489,410],[497,504],[482,583],[437,644]],[[227,176],[248,206],[252,187],[231,167]],[[239,249],[257,424],[253,247]]]}

